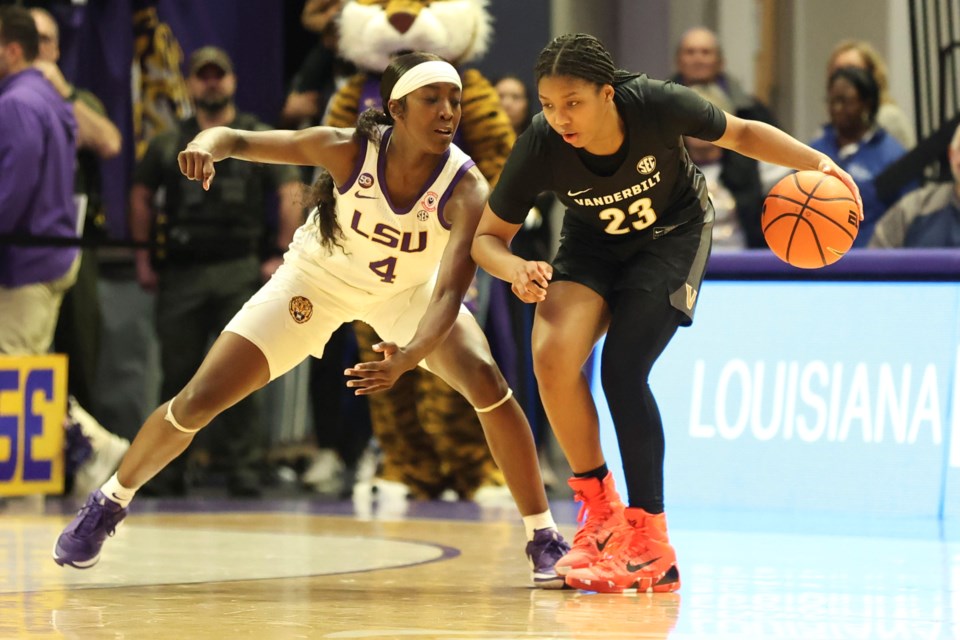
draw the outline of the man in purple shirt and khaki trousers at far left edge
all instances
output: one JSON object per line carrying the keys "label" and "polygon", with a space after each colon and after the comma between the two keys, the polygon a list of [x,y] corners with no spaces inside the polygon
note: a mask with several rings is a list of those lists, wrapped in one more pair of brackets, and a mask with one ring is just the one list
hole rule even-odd
{"label": "man in purple shirt and khaki trousers at far left edge", "polygon": [[[0,7],[0,235],[77,237],[73,108],[34,68],[33,16]],[[77,248],[0,240],[0,354],[46,353]]]}

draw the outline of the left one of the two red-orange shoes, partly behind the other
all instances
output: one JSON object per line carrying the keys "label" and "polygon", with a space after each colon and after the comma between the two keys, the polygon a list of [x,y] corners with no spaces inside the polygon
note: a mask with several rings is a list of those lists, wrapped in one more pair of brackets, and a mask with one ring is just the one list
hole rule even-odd
{"label": "left one of the two red-orange shoes, partly behind the other", "polygon": [[570,478],[567,484],[573,489],[573,499],[581,503],[577,514],[580,528],[570,552],[555,566],[562,576],[600,560],[611,550],[616,542],[614,533],[624,524],[624,505],[613,485],[613,474],[607,472],[602,482],[596,478]]}

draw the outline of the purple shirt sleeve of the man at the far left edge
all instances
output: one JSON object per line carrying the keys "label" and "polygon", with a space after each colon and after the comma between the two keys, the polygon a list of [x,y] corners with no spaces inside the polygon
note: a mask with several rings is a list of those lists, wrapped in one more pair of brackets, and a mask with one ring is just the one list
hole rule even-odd
{"label": "purple shirt sleeve of the man at the far left edge", "polygon": [[17,228],[38,187],[44,141],[35,120],[14,105],[0,113],[0,233]]}

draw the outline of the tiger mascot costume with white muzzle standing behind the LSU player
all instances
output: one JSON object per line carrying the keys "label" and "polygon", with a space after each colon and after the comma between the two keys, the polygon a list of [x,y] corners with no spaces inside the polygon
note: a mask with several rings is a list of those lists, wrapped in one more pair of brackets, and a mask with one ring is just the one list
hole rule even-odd
{"label": "tiger mascot costume with white muzzle standing behind the LSU player", "polygon": [[[338,52],[361,71],[331,98],[324,124],[352,127],[363,110],[382,108],[380,74],[398,52],[428,51],[457,67],[481,57],[491,22],[487,0],[347,2],[339,18]],[[487,78],[476,69],[459,70],[462,118],[455,141],[493,184],[515,134]],[[376,333],[361,322],[355,330],[360,359],[380,359],[372,348],[380,340]],[[476,413],[440,378],[417,368],[368,399],[383,452],[377,478],[403,483],[415,499],[435,499],[452,489],[470,500],[482,487],[504,487]]]}

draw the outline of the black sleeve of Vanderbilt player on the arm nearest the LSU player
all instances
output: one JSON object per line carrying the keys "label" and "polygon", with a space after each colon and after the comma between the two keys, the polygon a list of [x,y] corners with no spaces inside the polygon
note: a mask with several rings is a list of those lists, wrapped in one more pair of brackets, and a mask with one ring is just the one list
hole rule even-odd
{"label": "black sleeve of Vanderbilt player on the arm nearest the LSU player", "polygon": [[548,164],[535,125],[517,139],[507,163],[500,173],[497,186],[490,194],[490,208],[498,217],[520,224],[527,217],[538,194],[549,191]]}

